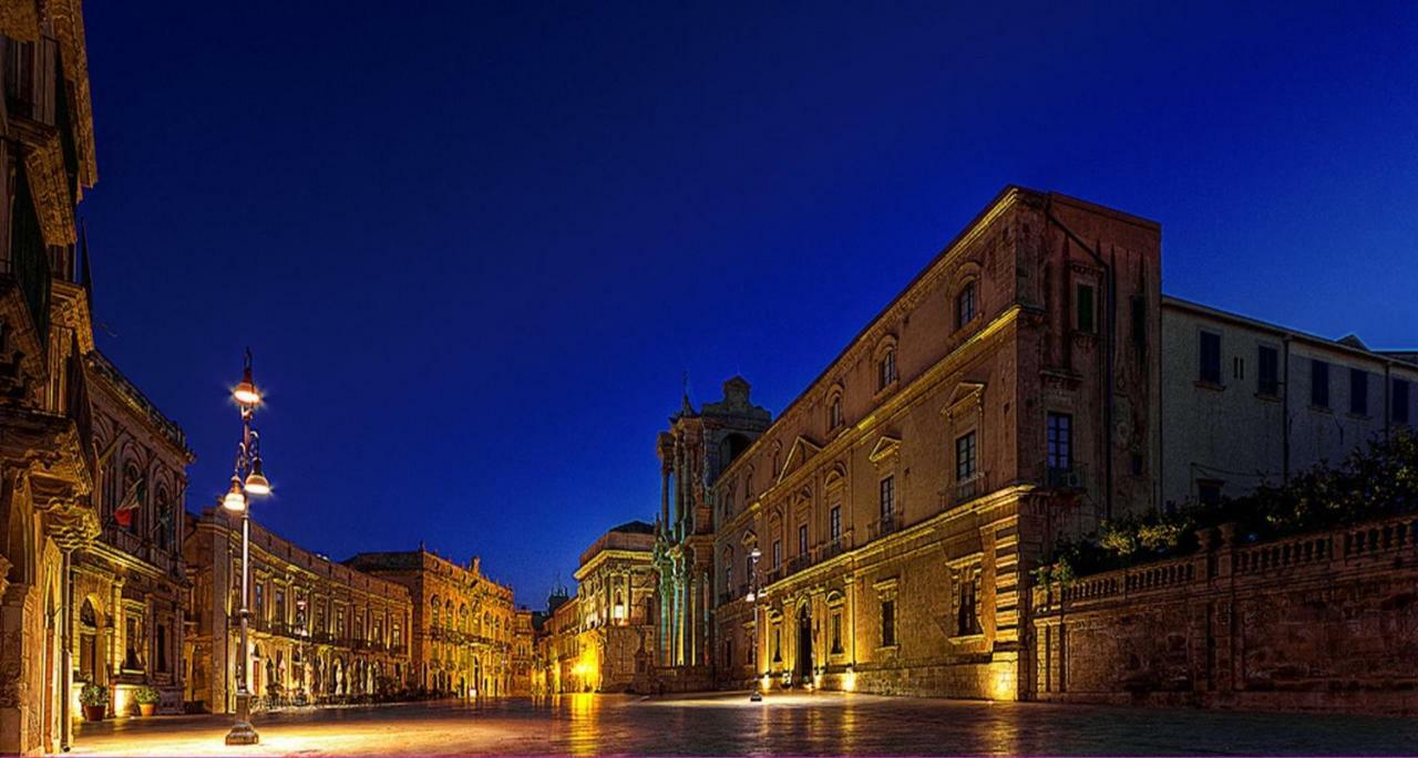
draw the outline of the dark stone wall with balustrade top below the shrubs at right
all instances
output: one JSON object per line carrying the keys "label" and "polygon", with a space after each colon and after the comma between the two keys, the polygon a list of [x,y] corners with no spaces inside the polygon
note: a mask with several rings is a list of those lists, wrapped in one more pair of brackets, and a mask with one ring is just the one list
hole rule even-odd
{"label": "dark stone wall with balustrade top below the shrubs at right", "polygon": [[1037,700],[1418,714],[1418,517],[1034,589]]}

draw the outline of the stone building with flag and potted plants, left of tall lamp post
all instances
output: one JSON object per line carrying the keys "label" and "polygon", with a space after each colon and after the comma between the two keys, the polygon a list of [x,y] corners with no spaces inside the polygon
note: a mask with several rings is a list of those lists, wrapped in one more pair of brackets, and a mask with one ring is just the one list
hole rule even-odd
{"label": "stone building with flag and potted plants, left of tall lamp post", "polygon": [[182,428],[112,363],[85,357],[94,496],[102,531],[74,560],[74,676],[109,689],[115,714],[155,687],[159,713],[183,710],[183,496],[193,456]]}

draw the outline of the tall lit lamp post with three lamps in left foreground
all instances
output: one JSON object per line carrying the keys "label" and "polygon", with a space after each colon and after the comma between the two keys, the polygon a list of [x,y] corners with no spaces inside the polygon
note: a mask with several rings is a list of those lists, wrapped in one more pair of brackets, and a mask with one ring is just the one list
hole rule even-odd
{"label": "tall lit lamp post with three lamps in left foreground", "polygon": [[241,514],[241,645],[237,653],[237,714],[227,732],[228,745],[254,745],[261,741],[255,727],[251,725],[251,691],[247,681],[251,679],[251,656],[247,650],[247,623],[251,611],[247,606],[251,577],[251,516],[248,496],[271,494],[271,482],[261,472],[261,434],[251,425],[257,405],[261,404],[261,392],[251,381],[251,349],[247,349],[247,361],[241,373],[241,381],[231,397],[241,409],[241,445],[237,446],[237,462],[231,472],[231,489],[221,499],[221,507],[231,513]]}

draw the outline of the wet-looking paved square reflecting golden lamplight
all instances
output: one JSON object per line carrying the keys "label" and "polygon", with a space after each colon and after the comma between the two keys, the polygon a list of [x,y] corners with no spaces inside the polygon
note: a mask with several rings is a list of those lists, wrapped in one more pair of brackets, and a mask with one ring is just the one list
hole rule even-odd
{"label": "wet-looking paved square reflecting golden lamplight", "polygon": [[562,696],[85,724],[77,755],[1401,755],[1418,720],[974,703],[865,694]]}

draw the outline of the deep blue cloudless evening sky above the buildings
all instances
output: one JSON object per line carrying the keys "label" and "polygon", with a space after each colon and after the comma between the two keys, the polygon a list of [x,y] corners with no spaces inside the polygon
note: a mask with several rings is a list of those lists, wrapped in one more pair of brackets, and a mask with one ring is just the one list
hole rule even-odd
{"label": "deep blue cloudless evening sky above the buildings", "polygon": [[683,371],[783,408],[1007,183],[1160,221],[1173,295],[1418,344],[1418,4],[659,6],[88,3],[98,341],[189,509],[251,344],[261,521],[540,605],[654,516]]}

